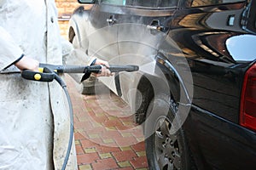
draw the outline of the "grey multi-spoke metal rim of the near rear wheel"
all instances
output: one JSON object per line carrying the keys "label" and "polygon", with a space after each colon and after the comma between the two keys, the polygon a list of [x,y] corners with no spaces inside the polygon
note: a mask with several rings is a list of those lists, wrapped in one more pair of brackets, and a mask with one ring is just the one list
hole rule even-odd
{"label": "grey multi-spoke metal rim of the near rear wheel", "polygon": [[154,155],[162,170],[181,168],[181,151],[177,134],[171,134],[172,122],[168,117],[158,119],[154,133]]}

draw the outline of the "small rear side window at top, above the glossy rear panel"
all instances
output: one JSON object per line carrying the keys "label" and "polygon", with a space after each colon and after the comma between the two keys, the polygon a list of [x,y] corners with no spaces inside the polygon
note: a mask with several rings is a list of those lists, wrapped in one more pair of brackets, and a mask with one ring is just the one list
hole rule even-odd
{"label": "small rear side window at top, above the glossy rear panel", "polygon": [[238,3],[244,2],[244,0],[189,0],[191,7],[201,7],[209,5],[218,5],[222,3]]}

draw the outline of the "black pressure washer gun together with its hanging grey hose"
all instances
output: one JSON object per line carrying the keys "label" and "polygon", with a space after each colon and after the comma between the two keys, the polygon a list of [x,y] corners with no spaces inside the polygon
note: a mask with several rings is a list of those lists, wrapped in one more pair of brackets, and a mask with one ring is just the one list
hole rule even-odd
{"label": "black pressure washer gun together with its hanging grey hose", "polygon": [[[138,71],[139,67],[137,65],[110,65],[108,67],[111,72],[119,72],[119,71]],[[102,71],[102,65],[92,65],[92,66],[77,66],[77,65],[48,65],[48,64],[40,64],[39,71],[21,71],[21,77],[26,78],[27,80],[39,81],[39,82],[52,82],[56,80],[63,88],[66,96],[67,102],[69,106],[70,113],[70,134],[69,134],[69,142],[67,145],[67,154],[65,156],[64,163],[61,167],[61,170],[65,170],[67,167],[67,161],[71,152],[72,143],[73,143],[73,106],[71,103],[70,96],[67,92],[67,85],[58,76],[58,73],[84,73],[84,77],[82,77],[81,82],[90,77],[92,72],[100,73]]]}

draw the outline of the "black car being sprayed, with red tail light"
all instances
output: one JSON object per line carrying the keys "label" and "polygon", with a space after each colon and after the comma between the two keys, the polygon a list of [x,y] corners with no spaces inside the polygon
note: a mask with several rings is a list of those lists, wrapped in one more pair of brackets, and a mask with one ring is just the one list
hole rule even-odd
{"label": "black car being sprayed, with red tail light", "polygon": [[75,48],[144,127],[150,169],[256,169],[255,0],[79,0]]}

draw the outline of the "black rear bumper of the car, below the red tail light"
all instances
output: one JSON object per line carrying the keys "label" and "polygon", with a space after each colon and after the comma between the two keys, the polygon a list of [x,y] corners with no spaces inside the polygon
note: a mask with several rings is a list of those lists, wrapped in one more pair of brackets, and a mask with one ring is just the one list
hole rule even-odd
{"label": "black rear bumper of the car, below the red tail light", "polygon": [[198,169],[255,169],[256,133],[192,106],[185,123]]}

